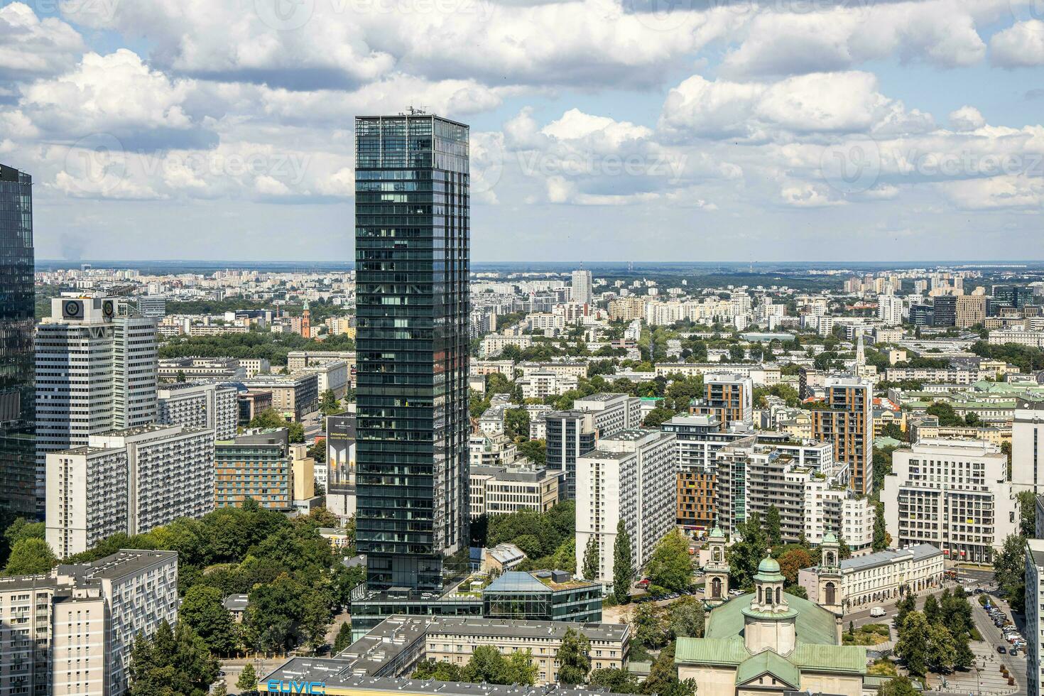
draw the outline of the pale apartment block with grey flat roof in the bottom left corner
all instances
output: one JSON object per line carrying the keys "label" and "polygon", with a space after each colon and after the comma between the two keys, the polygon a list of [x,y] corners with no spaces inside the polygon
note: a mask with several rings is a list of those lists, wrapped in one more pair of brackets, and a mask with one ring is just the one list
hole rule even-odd
{"label": "pale apartment block with grey flat roof in the bottom left corner", "polygon": [[124,694],[135,637],[177,620],[177,553],[119,551],[0,578],[0,694]]}

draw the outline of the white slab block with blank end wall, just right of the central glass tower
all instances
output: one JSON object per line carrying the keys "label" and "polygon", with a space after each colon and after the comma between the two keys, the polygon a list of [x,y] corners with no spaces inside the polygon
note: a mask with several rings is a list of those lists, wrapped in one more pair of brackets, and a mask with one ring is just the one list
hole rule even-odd
{"label": "white slab block with blank end wall, just right of the central glass tower", "polygon": [[674,529],[674,434],[624,430],[598,440],[576,460],[576,568],[592,535],[598,544],[598,580],[613,584],[613,549],[622,519],[636,574],[657,542]]}

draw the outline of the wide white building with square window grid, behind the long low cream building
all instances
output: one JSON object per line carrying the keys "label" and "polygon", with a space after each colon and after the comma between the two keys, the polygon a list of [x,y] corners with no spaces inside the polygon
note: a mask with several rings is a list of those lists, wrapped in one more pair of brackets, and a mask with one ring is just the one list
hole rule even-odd
{"label": "wide white building with square window grid, behind the long low cream building", "polygon": [[881,502],[896,547],[931,544],[953,560],[991,562],[1018,529],[1007,457],[981,440],[925,438],[896,450]]}

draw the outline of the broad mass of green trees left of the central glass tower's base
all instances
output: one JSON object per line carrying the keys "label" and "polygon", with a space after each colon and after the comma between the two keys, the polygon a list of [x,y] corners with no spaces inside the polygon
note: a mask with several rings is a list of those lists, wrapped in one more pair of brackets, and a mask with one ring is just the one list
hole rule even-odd
{"label": "broad mass of green trees left of the central glass tower's base", "polygon": [[[319,536],[318,528],[330,526],[337,526],[337,520],[325,509],[290,519],[248,499],[241,508],[175,520],[144,534],[114,534],[66,561],[93,561],[120,549],[176,551],[179,643],[182,632],[191,631],[191,640],[185,641],[216,655],[241,650],[282,653],[325,643],[334,614],[362,580],[361,569],[341,562],[354,549],[335,552]],[[46,573],[57,563],[46,542],[35,535],[38,523],[17,522],[7,532],[17,541],[6,573]],[[233,622],[221,603],[234,594],[248,596],[242,624]]]}

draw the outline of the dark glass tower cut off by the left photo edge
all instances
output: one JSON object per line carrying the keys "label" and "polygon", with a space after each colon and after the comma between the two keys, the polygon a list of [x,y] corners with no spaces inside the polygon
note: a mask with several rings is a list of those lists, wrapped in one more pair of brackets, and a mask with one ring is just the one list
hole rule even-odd
{"label": "dark glass tower cut off by the left photo edge", "polygon": [[[37,517],[32,177],[0,165],[0,513]],[[42,483],[42,480],[41,480]]]}

